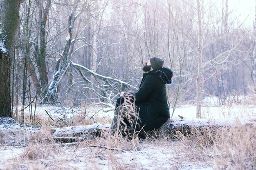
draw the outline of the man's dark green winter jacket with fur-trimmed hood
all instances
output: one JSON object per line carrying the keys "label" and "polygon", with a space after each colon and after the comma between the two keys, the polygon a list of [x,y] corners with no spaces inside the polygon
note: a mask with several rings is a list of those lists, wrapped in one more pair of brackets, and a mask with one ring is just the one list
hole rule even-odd
{"label": "man's dark green winter jacket with fur-trimmed hood", "polygon": [[154,130],[170,118],[166,96],[166,84],[171,84],[173,72],[169,68],[160,68],[144,73],[135,93],[135,105],[139,113],[139,128]]}

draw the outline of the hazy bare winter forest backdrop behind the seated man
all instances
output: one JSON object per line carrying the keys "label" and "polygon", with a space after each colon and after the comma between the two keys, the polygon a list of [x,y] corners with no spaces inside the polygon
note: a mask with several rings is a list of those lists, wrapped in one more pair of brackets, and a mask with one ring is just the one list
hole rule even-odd
{"label": "hazy bare winter forest backdrop behind the seated man", "polygon": [[[173,70],[171,106],[196,104],[197,93],[223,104],[255,87],[256,30],[247,24],[254,20],[238,20],[228,0],[36,0],[25,1],[19,11],[9,75],[1,81],[13,108],[115,102],[119,92],[138,88],[141,66],[153,56]],[[8,48],[3,38],[1,48]],[[1,74],[7,72],[3,64]]]}

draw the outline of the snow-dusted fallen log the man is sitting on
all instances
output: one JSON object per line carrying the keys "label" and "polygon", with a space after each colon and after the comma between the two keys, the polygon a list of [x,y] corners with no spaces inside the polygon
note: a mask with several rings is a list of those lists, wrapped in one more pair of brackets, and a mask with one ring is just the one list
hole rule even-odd
{"label": "snow-dusted fallen log the man is sitting on", "polygon": [[[186,119],[172,120],[168,119],[157,130],[143,131],[156,134],[158,132],[164,133],[166,135],[176,135],[177,132],[183,135],[188,135],[192,128],[221,128],[221,127],[236,127],[236,126],[252,126],[256,128],[256,119]],[[81,137],[79,139],[94,139],[94,137],[101,137],[102,130],[108,130],[110,124],[92,124],[87,126],[69,126],[65,128],[55,128],[53,131],[54,137],[69,137],[72,139],[74,137]],[[57,138],[58,139],[58,138]],[[65,139],[65,138],[63,138]],[[70,140],[68,140],[70,141]]]}

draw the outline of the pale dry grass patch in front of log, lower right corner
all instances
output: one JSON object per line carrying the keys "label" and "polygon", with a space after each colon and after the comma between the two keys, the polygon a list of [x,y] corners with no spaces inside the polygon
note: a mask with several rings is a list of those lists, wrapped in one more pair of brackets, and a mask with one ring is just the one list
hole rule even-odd
{"label": "pale dry grass patch in front of log, lower right corner", "polygon": [[256,125],[192,128],[176,137],[181,161],[208,162],[215,170],[256,170]]}

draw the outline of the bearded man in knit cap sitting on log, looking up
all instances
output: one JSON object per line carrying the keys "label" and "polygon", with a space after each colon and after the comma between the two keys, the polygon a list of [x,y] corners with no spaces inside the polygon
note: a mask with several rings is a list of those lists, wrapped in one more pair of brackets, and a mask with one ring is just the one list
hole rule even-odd
{"label": "bearded man in knit cap sitting on log, looking up", "polygon": [[[164,60],[159,57],[151,57],[143,66],[144,73],[139,90],[133,94],[138,120],[131,106],[124,103],[117,107],[111,124],[114,134],[122,125],[132,126],[135,130],[154,130],[162,126],[170,118],[167,102],[166,84],[171,84],[173,72],[163,67]],[[126,98],[127,93],[121,93],[120,97]],[[129,97],[129,96],[128,96]]]}

